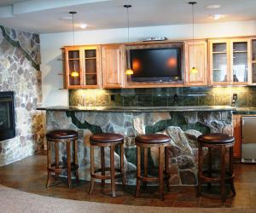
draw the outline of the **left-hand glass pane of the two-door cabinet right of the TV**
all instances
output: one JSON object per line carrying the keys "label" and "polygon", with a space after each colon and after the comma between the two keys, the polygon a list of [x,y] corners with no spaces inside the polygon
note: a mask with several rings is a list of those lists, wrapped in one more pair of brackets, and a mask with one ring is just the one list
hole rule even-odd
{"label": "left-hand glass pane of the two-door cabinet right of the TV", "polygon": [[227,43],[212,43],[212,81],[228,82]]}

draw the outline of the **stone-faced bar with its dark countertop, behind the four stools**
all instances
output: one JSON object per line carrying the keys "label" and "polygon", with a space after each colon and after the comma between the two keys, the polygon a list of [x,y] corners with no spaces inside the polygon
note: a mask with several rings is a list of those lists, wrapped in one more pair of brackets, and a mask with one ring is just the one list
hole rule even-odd
{"label": "stone-faced bar with its dark countertop, behind the four stools", "polygon": [[[136,184],[136,135],[163,133],[172,139],[170,165],[171,185],[197,184],[198,135],[221,132],[232,135],[233,107],[40,107],[46,110],[47,130],[70,129],[79,132],[79,177],[90,180],[90,135],[115,132],[125,136],[125,176],[127,184]],[[96,150],[96,166],[100,166]],[[148,154],[148,165],[158,165],[157,152]],[[207,154],[207,152],[205,153]],[[66,149],[60,147],[65,160]],[[109,149],[105,149],[109,166]],[[115,153],[119,166],[119,150]],[[150,171],[149,171],[150,172]],[[149,173],[150,175],[150,173]]]}

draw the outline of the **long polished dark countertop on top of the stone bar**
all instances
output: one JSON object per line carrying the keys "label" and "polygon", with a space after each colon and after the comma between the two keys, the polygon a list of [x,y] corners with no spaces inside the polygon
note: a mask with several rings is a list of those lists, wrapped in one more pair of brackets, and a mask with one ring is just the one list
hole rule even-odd
{"label": "long polished dark countertop on top of the stone bar", "polygon": [[[76,107],[55,106],[38,107],[48,111],[84,111],[84,112],[198,112],[198,111],[236,111],[230,106],[190,106],[190,107]],[[255,108],[256,112],[256,108]]]}

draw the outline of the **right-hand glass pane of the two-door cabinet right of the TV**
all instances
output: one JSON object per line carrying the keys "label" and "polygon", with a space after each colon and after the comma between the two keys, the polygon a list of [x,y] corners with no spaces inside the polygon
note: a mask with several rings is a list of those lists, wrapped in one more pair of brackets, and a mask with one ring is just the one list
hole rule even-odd
{"label": "right-hand glass pane of the two-door cabinet right of the TV", "polygon": [[247,82],[247,42],[233,42],[233,83]]}

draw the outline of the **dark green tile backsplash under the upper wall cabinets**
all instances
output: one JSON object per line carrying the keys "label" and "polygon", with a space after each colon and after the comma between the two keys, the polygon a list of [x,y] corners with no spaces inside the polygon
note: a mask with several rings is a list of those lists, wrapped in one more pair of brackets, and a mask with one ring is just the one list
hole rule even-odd
{"label": "dark green tile backsplash under the upper wall cabinets", "polygon": [[92,107],[172,107],[223,106],[256,107],[256,87],[184,87],[154,89],[73,89],[70,106]]}

